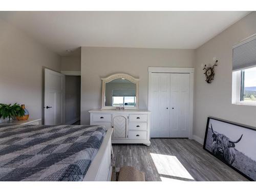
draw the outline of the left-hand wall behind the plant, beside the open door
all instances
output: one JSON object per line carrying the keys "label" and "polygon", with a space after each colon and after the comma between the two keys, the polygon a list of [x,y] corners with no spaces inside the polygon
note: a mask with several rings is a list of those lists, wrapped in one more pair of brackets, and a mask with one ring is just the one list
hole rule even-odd
{"label": "left-hand wall behind the plant, beside the open door", "polygon": [[42,118],[43,69],[60,71],[60,56],[0,19],[0,102],[25,104]]}

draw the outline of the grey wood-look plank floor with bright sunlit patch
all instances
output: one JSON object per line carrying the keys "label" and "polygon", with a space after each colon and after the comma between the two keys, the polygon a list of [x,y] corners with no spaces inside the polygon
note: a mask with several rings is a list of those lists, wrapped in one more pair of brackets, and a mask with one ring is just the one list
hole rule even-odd
{"label": "grey wood-look plank floor with bright sunlit patch", "polygon": [[117,168],[134,166],[146,181],[247,181],[242,175],[189,139],[151,139],[143,144],[113,144]]}

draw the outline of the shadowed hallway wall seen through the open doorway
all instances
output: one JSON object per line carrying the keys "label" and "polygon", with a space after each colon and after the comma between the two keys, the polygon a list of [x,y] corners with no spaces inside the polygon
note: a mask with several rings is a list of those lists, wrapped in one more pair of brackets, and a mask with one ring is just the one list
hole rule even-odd
{"label": "shadowed hallway wall seen through the open doorway", "polygon": [[66,75],[65,123],[72,124],[80,119],[81,77]]}

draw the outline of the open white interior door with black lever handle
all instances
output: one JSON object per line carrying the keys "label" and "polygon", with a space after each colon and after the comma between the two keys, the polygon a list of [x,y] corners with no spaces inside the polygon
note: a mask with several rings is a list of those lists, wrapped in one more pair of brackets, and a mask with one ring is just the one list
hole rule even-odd
{"label": "open white interior door with black lever handle", "polygon": [[45,124],[65,123],[65,75],[45,69]]}

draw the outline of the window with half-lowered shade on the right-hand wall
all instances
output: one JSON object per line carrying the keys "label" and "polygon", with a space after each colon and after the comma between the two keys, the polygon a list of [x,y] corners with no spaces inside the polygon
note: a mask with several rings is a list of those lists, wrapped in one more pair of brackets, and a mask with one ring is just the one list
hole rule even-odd
{"label": "window with half-lowered shade on the right-hand wall", "polygon": [[233,46],[232,103],[256,105],[256,34]]}

